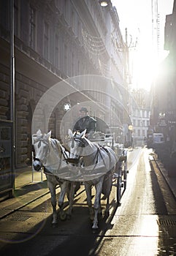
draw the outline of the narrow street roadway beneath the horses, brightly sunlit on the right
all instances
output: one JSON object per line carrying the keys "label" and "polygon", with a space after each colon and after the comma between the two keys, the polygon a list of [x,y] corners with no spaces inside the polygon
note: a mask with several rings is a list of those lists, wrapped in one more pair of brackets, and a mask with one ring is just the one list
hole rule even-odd
{"label": "narrow street roadway beneath the horses, brightly sunlit on the right", "polygon": [[148,148],[128,154],[126,191],[117,206],[112,187],[110,217],[103,215],[97,233],[91,230],[82,185],[72,219],[59,220],[55,228],[49,194],[2,219],[1,255],[175,255],[175,197],[156,163],[149,161]]}

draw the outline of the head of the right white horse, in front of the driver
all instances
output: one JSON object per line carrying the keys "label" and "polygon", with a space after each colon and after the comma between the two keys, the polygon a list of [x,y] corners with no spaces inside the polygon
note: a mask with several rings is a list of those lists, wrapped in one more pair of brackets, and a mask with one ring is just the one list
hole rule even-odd
{"label": "head of the right white horse, in front of the driver", "polygon": [[69,139],[67,141],[67,145],[69,147],[70,155],[69,162],[77,162],[77,160],[83,156],[84,148],[88,145],[88,140],[85,138],[86,129],[80,134],[72,133],[71,129],[69,129]]}

